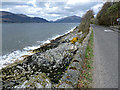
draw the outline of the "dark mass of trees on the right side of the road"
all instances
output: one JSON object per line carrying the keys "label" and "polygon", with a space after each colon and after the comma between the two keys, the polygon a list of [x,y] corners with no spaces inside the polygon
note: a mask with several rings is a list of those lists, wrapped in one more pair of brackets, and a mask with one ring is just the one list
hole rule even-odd
{"label": "dark mass of trees on the right side of the road", "polygon": [[117,25],[120,18],[120,2],[106,2],[96,16],[99,25]]}

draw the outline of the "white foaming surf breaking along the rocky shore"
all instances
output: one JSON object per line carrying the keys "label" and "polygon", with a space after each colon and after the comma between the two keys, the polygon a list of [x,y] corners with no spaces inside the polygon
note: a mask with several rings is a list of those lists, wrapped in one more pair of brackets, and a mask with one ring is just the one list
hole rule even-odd
{"label": "white foaming surf breaking along the rocky shore", "polygon": [[56,41],[57,39],[64,37],[65,35],[73,32],[74,29],[76,29],[77,27],[78,26],[73,27],[72,29],[66,31],[64,34],[56,35],[51,38],[48,38],[46,41],[43,41],[43,43],[41,43],[40,45],[27,46],[27,47],[23,48],[22,50],[16,50],[16,51],[13,51],[13,52],[10,52],[10,53],[0,56],[0,69],[6,67],[9,64],[14,63],[15,61],[23,60],[25,58],[24,56],[33,55],[35,52],[31,52],[31,51],[35,51],[35,50],[41,48],[42,46],[46,46],[47,44],[50,44],[53,41]]}

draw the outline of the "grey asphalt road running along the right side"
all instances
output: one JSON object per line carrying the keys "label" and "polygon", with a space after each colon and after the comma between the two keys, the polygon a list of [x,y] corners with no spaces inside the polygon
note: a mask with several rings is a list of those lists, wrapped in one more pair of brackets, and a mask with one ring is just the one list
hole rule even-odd
{"label": "grey asphalt road running along the right side", "polygon": [[118,88],[118,33],[91,25],[94,31],[93,88]]}

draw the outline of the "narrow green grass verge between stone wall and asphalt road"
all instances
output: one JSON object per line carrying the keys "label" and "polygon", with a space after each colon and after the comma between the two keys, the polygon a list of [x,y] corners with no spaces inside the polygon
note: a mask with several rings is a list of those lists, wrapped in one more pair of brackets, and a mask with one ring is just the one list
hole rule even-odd
{"label": "narrow green grass verge between stone wall and asphalt road", "polygon": [[78,80],[78,88],[92,88],[92,64],[93,64],[93,30],[90,35],[88,46],[85,52],[81,74]]}

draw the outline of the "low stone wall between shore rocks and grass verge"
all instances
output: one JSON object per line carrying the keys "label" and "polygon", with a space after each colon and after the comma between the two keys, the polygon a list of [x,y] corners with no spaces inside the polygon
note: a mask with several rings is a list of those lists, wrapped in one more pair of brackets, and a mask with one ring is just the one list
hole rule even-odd
{"label": "low stone wall between shore rocks and grass verge", "polygon": [[85,51],[87,48],[88,40],[91,34],[91,29],[89,34],[83,40],[81,46],[77,50],[74,58],[70,62],[70,65],[67,71],[64,73],[63,77],[60,79],[59,84],[57,85],[58,88],[77,88],[78,79],[80,76],[82,61],[85,58]]}

